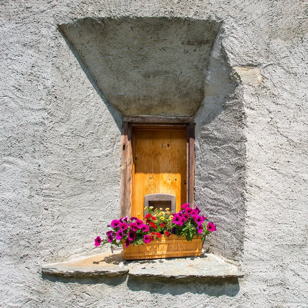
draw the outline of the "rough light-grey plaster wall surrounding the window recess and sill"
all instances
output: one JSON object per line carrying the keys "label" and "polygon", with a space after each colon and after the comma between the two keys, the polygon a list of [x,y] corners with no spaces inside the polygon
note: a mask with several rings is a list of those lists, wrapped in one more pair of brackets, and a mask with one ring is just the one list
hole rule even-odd
{"label": "rough light-grey plaster wall surrounding the window recess and sill", "polygon": [[[306,2],[0,6],[2,306],[308,305]],[[218,224],[205,248],[243,278],[42,277],[43,263],[104,251],[93,238],[119,212],[121,114],[57,28],[122,16],[222,22],[196,115],[196,202]]]}

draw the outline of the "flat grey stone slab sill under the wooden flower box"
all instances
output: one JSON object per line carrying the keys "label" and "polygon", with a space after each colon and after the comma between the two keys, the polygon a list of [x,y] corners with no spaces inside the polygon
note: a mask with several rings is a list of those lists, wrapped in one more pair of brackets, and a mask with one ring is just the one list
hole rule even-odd
{"label": "flat grey stone slab sill under the wooden flower box", "polygon": [[200,257],[125,261],[122,251],[86,257],[76,261],[46,264],[42,273],[63,276],[152,276],[165,278],[243,277],[235,265],[213,254]]}

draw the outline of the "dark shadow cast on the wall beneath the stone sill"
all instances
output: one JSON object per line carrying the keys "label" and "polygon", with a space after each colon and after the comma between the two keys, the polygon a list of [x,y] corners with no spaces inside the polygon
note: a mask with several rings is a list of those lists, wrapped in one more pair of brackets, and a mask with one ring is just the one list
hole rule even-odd
{"label": "dark shadow cast on the wall beneath the stone sill", "polygon": [[64,277],[54,275],[42,275],[43,279],[52,282],[100,284],[117,286],[127,281],[127,287],[132,292],[145,291],[152,294],[180,295],[185,293],[205,294],[208,296],[234,297],[239,293],[240,285],[238,278],[157,278],[157,277],[134,277],[123,275],[117,277]]}

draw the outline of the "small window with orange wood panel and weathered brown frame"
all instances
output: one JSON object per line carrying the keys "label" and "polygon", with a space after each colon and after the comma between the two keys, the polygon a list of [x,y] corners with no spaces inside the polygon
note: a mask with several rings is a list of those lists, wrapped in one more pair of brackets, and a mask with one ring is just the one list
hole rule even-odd
{"label": "small window with orange wood panel and weathered brown frame", "polygon": [[193,118],[152,115],[123,118],[121,217],[143,215],[145,196],[149,194],[175,195],[176,211],[183,203],[193,205],[194,176]]}

